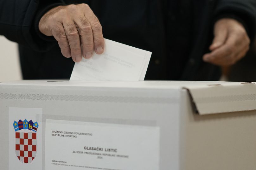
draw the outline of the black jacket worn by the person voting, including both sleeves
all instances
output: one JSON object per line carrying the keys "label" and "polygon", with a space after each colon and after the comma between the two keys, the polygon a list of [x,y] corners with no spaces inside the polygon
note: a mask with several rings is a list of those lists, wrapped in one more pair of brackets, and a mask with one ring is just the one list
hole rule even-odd
{"label": "black jacket worn by the person voting, including both sleeves", "polygon": [[24,79],[70,77],[74,62],[38,31],[45,12],[70,3],[88,3],[105,38],[152,52],[145,79],[218,80],[219,67],[202,61],[214,22],[231,17],[256,32],[255,0],[0,0],[0,34],[20,44]]}

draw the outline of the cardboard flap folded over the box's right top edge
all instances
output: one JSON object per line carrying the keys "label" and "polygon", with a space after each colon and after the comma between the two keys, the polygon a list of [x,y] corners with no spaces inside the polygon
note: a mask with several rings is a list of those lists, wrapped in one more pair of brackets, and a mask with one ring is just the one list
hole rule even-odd
{"label": "cardboard flap folded over the box's right top edge", "polygon": [[196,112],[216,114],[256,110],[255,83],[225,83],[187,85]]}

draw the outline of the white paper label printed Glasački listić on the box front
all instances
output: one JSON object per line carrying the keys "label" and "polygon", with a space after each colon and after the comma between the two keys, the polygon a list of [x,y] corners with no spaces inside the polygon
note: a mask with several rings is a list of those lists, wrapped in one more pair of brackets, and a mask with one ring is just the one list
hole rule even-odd
{"label": "white paper label printed Glasa\u010dki listi\u0107 on the box front", "polygon": [[45,169],[158,170],[160,128],[46,120]]}

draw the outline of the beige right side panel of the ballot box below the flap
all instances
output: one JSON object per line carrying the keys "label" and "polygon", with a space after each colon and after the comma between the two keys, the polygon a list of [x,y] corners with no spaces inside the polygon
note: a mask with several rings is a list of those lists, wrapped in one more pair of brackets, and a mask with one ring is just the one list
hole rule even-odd
{"label": "beige right side panel of the ballot box below the flap", "polygon": [[256,170],[256,111],[199,115],[181,98],[180,170]]}

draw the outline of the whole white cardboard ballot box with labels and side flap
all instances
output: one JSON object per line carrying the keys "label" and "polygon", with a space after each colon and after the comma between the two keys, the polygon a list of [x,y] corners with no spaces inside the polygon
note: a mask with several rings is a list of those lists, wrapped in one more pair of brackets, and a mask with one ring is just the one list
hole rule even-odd
{"label": "whole white cardboard ballot box with labels and side flap", "polygon": [[0,169],[256,169],[256,84],[0,83]]}

